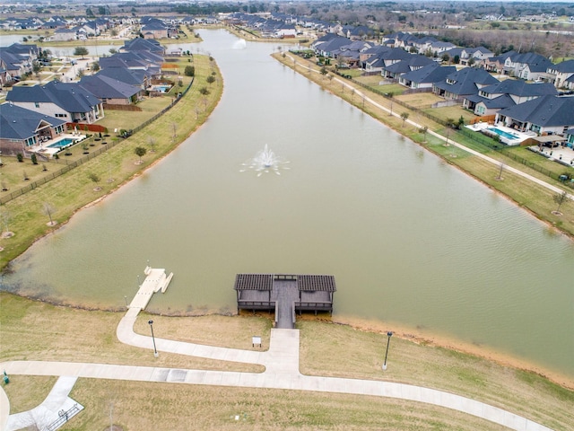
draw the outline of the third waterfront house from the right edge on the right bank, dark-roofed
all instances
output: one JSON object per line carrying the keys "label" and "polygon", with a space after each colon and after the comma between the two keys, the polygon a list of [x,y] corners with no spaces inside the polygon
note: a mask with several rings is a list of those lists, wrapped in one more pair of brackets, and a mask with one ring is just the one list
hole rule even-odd
{"label": "third waterfront house from the right edge on the right bank, dark-roofed", "polygon": [[498,79],[490,75],[484,69],[465,67],[447,76],[444,81],[435,83],[432,92],[453,101],[464,101],[486,85],[498,83]]}

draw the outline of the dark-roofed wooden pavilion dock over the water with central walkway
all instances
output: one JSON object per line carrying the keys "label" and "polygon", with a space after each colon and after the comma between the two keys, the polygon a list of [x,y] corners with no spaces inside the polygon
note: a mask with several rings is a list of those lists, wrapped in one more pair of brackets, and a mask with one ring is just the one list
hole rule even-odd
{"label": "dark-roofed wooden pavilion dock over the water with central walkway", "polygon": [[292,329],[297,312],[333,312],[335,277],[238,274],[237,309],[275,313],[275,328]]}

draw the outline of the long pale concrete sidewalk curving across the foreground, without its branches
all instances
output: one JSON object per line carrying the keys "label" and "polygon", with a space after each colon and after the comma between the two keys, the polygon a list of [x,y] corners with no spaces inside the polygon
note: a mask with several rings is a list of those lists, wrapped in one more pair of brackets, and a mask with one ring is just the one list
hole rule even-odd
{"label": "long pale concrete sidewalk curving across the foreground, without its branches", "polygon": [[403,383],[387,383],[299,373],[235,373],[133,365],[81,364],[74,362],[12,361],[1,364],[9,374],[67,375],[75,378],[138,382],[188,383],[297,391],[322,391],[413,400],[455,409],[519,431],[551,431],[503,409],[452,393]]}

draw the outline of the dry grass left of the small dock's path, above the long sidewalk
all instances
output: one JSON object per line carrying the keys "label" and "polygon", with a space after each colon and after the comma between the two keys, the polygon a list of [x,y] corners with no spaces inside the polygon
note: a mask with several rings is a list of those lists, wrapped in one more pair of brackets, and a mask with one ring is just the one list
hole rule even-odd
{"label": "dry grass left of the small dock's path, above the long sidewalk", "polygon": [[[6,293],[0,294],[0,306],[2,308],[0,360],[2,361],[74,361],[263,371],[260,365],[235,364],[170,353],[162,353],[159,358],[154,358],[152,346],[150,352],[145,352],[141,348],[126,346],[117,340],[116,328],[123,317],[122,312],[84,311],[30,301]],[[145,316],[142,319],[146,324]],[[156,335],[163,337],[165,332],[161,319],[156,317],[153,319],[157,320],[157,324],[154,325]]]}

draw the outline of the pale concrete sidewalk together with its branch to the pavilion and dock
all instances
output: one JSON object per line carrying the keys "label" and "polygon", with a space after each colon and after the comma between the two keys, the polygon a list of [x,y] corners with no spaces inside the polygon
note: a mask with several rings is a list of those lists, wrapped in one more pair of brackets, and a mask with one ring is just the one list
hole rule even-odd
{"label": "pale concrete sidewalk together with its branch to the pavilion and dock", "polygon": [[[139,309],[129,309],[126,312],[126,315],[117,326],[117,338],[130,346],[145,348],[152,355],[152,337],[139,335],[134,332],[134,323],[138,313]],[[264,373],[48,361],[7,361],[0,364],[0,366],[9,375],[56,375],[73,378],[273,388],[291,391],[320,391],[387,397],[455,409],[517,431],[551,431],[551,428],[544,427],[515,413],[446,391],[437,391],[404,383],[300,374],[299,341],[299,330],[281,329],[271,330],[269,348],[266,351],[211,347],[170,339],[155,339],[156,348],[160,354],[161,352],[170,352],[179,355],[265,365]],[[0,427],[2,430],[6,430],[8,428],[6,427],[7,418],[4,418],[4,406],[2,406],[0,411],[3,412]]]}

